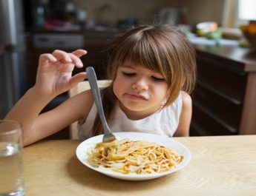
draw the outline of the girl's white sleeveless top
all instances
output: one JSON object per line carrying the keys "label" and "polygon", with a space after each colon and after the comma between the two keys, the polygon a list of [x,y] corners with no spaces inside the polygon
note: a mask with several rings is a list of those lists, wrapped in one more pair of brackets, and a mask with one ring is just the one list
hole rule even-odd
{"label": "girl's white sleeveless top", "polygon": [[[179,124],[180,113],[183,107],[182,97],[183,93],[180,92],[180,95],[173,104],[137,121],[130,120],[125,113],[122,112],[119,104],[116,104],[113,121],[108,123],[108,126],[111,129],[111,132],[146,132],[172,137]],[[79,139],[85,140],[93,136],[91,129],[96,113],[97,109],[94,103],[84,124],[78,123]]]}

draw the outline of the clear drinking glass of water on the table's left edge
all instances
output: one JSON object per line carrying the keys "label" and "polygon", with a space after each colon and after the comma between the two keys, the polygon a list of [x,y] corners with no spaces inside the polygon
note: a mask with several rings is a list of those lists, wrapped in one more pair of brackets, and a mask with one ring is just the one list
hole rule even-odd
{"label": "clear drinking glass of water on the table's left edge", "polygon": [[0,121],[0,196],[24,195],[22,126]]}

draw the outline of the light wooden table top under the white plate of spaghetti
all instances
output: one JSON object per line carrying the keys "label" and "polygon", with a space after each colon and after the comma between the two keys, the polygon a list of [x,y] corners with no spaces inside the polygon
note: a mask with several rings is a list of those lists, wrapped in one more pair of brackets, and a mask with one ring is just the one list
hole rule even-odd
{"label": "light wooden table top under the white plate of spaghetti", "polygon": [[82,141],[24,147],[26,196],[256,195],[256,135],[174,138],[191,150],[184,169],[163,178],[125,181],[88,169],[76,158]]}

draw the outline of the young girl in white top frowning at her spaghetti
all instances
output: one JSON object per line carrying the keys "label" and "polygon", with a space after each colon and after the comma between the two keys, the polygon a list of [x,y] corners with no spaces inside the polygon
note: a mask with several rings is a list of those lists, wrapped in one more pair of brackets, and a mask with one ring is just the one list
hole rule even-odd
{"label": "young girl in white top frowning at her spaghetti", "polygon": [[[24,145],[39,141],[74,121],[79,138],[102,134],[91,90],[76,95],[59,107],[39,113],[56,97],[87,78],[72,76],[85,50],[42,54],[36,84],[7,114],[23,125]],[[194,47],[176,27],[142,25],[118,36],[110,49],[109,87],[101,90],[102,104],[112,132],[149,132],[188,136],[191,93],[195,84]]]}

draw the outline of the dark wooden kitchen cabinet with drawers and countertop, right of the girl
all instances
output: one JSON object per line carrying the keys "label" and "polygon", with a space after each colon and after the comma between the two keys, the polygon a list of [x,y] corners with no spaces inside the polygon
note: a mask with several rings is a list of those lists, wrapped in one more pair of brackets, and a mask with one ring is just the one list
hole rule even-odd
{"label": "dark wooden kitchen cabinet with drawers and countertop, right of the girl", "polygon": [[256,50],[195,44],[191,135],[256,134]]}

